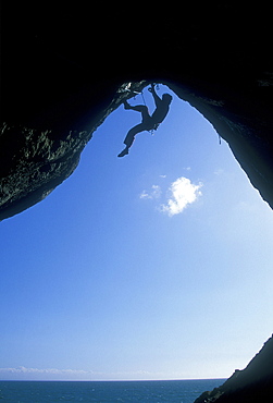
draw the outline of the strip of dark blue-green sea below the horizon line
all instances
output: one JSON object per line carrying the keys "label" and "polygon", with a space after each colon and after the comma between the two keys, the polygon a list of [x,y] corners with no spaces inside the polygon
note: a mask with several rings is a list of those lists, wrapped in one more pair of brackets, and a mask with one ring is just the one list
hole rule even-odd
{"label": "strip of dark blue-green sea below the horizon line", "polygon": [[0,402],[194,403],[224,379],[159,381],[0,381]]}

